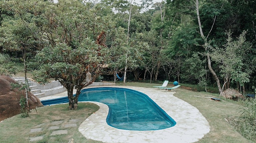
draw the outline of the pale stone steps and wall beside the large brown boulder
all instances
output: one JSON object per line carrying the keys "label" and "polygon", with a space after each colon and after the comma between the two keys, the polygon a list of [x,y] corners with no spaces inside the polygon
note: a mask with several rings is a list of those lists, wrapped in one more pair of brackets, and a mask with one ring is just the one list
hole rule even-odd
{"label": "pale stone steps and wall beside the large brown boulder", "polygon": [[[17,82],[25,83],[24,77],[13,77]],[[61,86],[59,81],[51,81],[45,85],[41,85],[28,79],[30,92],[38,98],[50,96],[66,91],[66,88]]]}

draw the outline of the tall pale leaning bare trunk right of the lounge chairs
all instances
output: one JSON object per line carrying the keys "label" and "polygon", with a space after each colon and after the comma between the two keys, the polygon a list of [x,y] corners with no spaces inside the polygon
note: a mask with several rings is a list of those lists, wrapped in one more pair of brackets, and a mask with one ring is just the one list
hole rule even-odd
{"label": "tall pale leaning bare trunk right of the lounge chairs", "polygon": [[[201,25],[201,21],[200,21],[200,16],[199,16],[199,8],[198,8],[198,0],[196,0],[196,14],[197,14],[197,20],[198,20],[198,25],[199,25],[199,29],[200,29],[200,34],[201,34],[201,37],[203,38],[204,40],[204,45],[203,47],[205,48],[205,53],[206,53],[206,56],[207,56],[207,62],[208,62],[208,68],[209,70],[211,71],[216,83],[217,83],[217,86],[218,86],[218,89],[219,89],[219,93],[221,94],[221,91],[222,91],[222,88],[220,86],[220,81],[219,81],[219,78],[217,76],[217,74],[214,72],[214,70],[212,69],[212,66],[211,66],[211,58],[210,58],[210,55],[208,53],[208,49],[209,49],[209,43],[207,42],[207,38],[204,36],[203,34],[203,30],[202,30],[202,25]],[[215,20],[215,19],[214,19]],[[214,23],[213,23],[214,24]],[[210,31],[211,32],[211,31]],[[209,32],[209,33],[210,33]],[[209,35],[209,34],[208,34]]]}

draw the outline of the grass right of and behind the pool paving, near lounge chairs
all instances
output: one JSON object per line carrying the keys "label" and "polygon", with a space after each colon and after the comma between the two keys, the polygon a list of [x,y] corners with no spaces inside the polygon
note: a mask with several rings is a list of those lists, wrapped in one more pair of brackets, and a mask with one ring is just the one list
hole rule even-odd
{"label": "grass right of and behind the pool paving, near lounge chairs", "polygon": [[[116,85],[120,85],[120,83]],[[127,82],[126,86],[152,88],[153,86],[160,86],[160,84]],[[239,115],[237,108],[240,106],[236,102],[230,100],[226,101],[224,98],[221,100],[221,102],[211,101],[208,97],[218,97],[218,95],[206,92],[192,92],[182,88],[177,88],[174,96],[199,109],[210,124],[210,132],[197,143],[251,142],[241,136],[230,124],[225,121],[225,117],[227,116]]]}

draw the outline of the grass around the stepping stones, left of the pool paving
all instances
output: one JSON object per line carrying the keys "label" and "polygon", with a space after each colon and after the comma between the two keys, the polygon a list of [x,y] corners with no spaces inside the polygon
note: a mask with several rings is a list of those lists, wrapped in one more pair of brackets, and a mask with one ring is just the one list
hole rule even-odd
{"label": "grass around the stepping stones, left of the pool paving", "polygon": [[[29,117],[21,118],[20,115],[8,118],[0,123],[0,143],[28,143],[32,137],[43,136],[43,139],[32,143],[67,143],[71,138],[74,143],[102,143],[86,139],[79,131],[79,125],[99,106],[91,103],[79,103],[77,110],[68,110],[68,104],[39,107],[31,110]],[[74,119],[76,122],[71,122]],[[53,124],[61,121],[60,124]],[[76,127],[65,127],[65,124],[76,123]],[[58,126],[57,130],[67,130],[67,134],[51,135],[55,130],[52,126]],[[31,129],[42,128],[39,132],[31,132]]]}

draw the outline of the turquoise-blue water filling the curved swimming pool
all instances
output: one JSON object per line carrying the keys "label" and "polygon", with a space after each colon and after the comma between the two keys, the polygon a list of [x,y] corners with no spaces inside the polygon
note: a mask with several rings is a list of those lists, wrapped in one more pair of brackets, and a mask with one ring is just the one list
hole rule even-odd
{"label": "turquoise-blue water filling the curved swimming pool", "polygon": [[[108,125],[125,130],[159,130],[176,122],[147,95],[125,88],[83,89],[78,101],[95,101],[109,106]],[[68,103],[68,98],[41,101],[43,105]]]}

